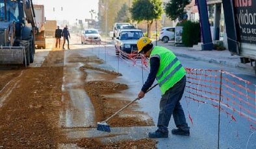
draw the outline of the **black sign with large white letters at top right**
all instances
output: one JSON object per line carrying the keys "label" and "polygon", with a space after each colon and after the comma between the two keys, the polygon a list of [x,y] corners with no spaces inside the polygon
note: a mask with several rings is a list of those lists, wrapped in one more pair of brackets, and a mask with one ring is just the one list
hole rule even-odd
{"label": "black sign with large white letters at top right", "polygon": [[233,0],[238,41],[256,44],[256,0]]}

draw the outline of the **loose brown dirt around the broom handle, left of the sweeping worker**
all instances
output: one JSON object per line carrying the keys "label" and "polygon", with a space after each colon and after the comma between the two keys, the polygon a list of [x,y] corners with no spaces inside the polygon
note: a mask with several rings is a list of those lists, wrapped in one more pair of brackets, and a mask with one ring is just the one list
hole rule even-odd
{"label": "loose brown dirt around the broom handle, left of the sweeping worker", "polygon": [[[84,67],[88,68],[88,67]],[[106,73],[107,71],[105,71]],[[118,76],[118,73],[109,72],[111,75]],[[96,113],[96,121],[103,121],[116,113],[123,106],[131,102],[129,99],[125,98],[107,98],[104,95],[112,93],[120,93],[127,89],[128,86],[125,84],[114,83],[110,81],[91,81],[85,82],[84,89],[88,93],[92,104],[94,105]],[[136,104],[133,104],[133,107]],[[124,109],[123,113],[129,113],[135,116],[120,117],[116,115],[109,120],[108,124],[115,127],[126,127],[126,126],[153,126],[153,120],[141,120],[138,115],[144,115],[141,111],[134,111],[131,107]]]}

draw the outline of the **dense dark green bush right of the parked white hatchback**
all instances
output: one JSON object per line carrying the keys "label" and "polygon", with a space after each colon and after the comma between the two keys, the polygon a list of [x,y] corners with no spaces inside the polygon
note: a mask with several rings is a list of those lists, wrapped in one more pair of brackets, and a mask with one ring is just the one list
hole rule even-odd
{"label": "dense dark green bush right of the parked white hatchback", "polygon": [[192,21],[184,21],[179,26],[183,27],[182,42],[186,47],[193,47],[201,41],[201,32],[199,23]]}

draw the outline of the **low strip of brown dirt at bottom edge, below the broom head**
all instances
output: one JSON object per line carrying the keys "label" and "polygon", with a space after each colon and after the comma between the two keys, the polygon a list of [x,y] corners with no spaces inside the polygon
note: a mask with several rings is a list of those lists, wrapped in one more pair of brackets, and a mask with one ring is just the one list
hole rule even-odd
{"label": "low strip of brown dirt at bottom edge, below the broom head", "polygon": [[83,138],[77,142],[77,145],[88,149],[155,149],[156,141],[151,139],[140,139],[137,141],[118,141],[114,143],[101,143],[99,138]]}

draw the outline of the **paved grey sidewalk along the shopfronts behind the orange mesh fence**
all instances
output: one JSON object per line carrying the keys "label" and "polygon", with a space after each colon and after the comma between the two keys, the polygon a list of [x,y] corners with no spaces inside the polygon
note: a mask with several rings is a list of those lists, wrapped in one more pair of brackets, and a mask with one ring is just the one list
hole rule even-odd
{"label": "paved grey sidewalk along the shopfronts behind the orange mesh fence", "polygon": [[171,49],[176,54],[176,56],[193,58],[195,60],[201,60],[209,63],[216,63],[219,65],[222,64],[223,66],[227,66],[227,67],[250,69],[251,71],[253,71],[253,67],[251,67],[250,63],[247,63],[247,64],[240,63],[239,56],[237,55],[231,56],[228,50],[201,51],[201,50],[193,49],[192,47],[175,47],[173,43],[170,43],[170,42],[162,43],[162,41],[157,41],[157,45]]}

